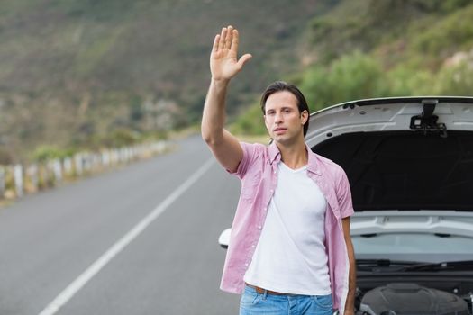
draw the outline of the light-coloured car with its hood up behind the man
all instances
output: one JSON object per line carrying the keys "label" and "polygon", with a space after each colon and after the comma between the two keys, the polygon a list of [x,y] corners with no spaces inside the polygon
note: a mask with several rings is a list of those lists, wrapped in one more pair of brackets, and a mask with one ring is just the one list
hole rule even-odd
{"label": "light-coloured car with its hood up behind the man", "polygon": [[473,314],[473,97],[340,103],[305,141],[350,181],[357,314]]}

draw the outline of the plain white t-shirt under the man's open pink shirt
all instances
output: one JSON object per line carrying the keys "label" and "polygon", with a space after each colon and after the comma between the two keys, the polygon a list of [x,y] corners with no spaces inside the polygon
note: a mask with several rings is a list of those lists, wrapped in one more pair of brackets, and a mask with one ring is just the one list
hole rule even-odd
{"label": "plain white t-shirt under the man's open pink shirt", "polygon": [[326,208],[306,167],[293,170],[280,162],[277,188],[244,281],[281,293],[330,294]]}

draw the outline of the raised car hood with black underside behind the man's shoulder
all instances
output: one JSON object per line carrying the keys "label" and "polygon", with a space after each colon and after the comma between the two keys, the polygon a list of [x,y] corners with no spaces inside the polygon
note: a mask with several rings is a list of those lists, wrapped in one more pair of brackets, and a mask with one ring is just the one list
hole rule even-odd
{"label": "raised car hood with black underside behind the man's shoulder", "polygon": [[355,211],[473,211],[473,97],[341,103],[305,138],[343,167]]}

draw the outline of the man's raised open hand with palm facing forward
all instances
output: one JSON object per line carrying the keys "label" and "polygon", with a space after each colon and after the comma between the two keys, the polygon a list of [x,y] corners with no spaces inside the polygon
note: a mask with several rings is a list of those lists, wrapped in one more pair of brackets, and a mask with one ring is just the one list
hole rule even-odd
{"label": "man's raised open hand with palm facing forward", "polygon": [[229,81],[250,60],[250,54],[237,59],[238,44],[238,31],[232,26],[224,27],[222,32],[215,36],[210,55],[210,71],[215,81]]}

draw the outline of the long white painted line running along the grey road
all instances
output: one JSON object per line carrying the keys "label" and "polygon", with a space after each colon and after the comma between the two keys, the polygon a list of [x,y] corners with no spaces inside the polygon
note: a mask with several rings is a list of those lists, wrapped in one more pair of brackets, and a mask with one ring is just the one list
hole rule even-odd
{"label": "long white painted line running along the grey road", "polygon": [[76,280],[68,285],[46,308],[41,311],[40,315],[53,315],[64,306],[90,279],[92,279],[103,267],[105,267],[116,255],[118,255],[124,247],[137,238],[141,232],[146,229],[153,220],[168,209],[168,206],[185,193],[186,190],[196,183],[196,181],[205,174],[205,172],[214,164],[214,158],[210,158],[203,166],[197,169],[196,173],[187,178],[186,182],[177,187],[177,189],[168,195],[163,202],[150,212],[143,220],[134,226],[123,238],[118,240],[112,247],[110,247],[104,255],[99,257],[96,262],[89,266],[82,275],[79,275]]}

